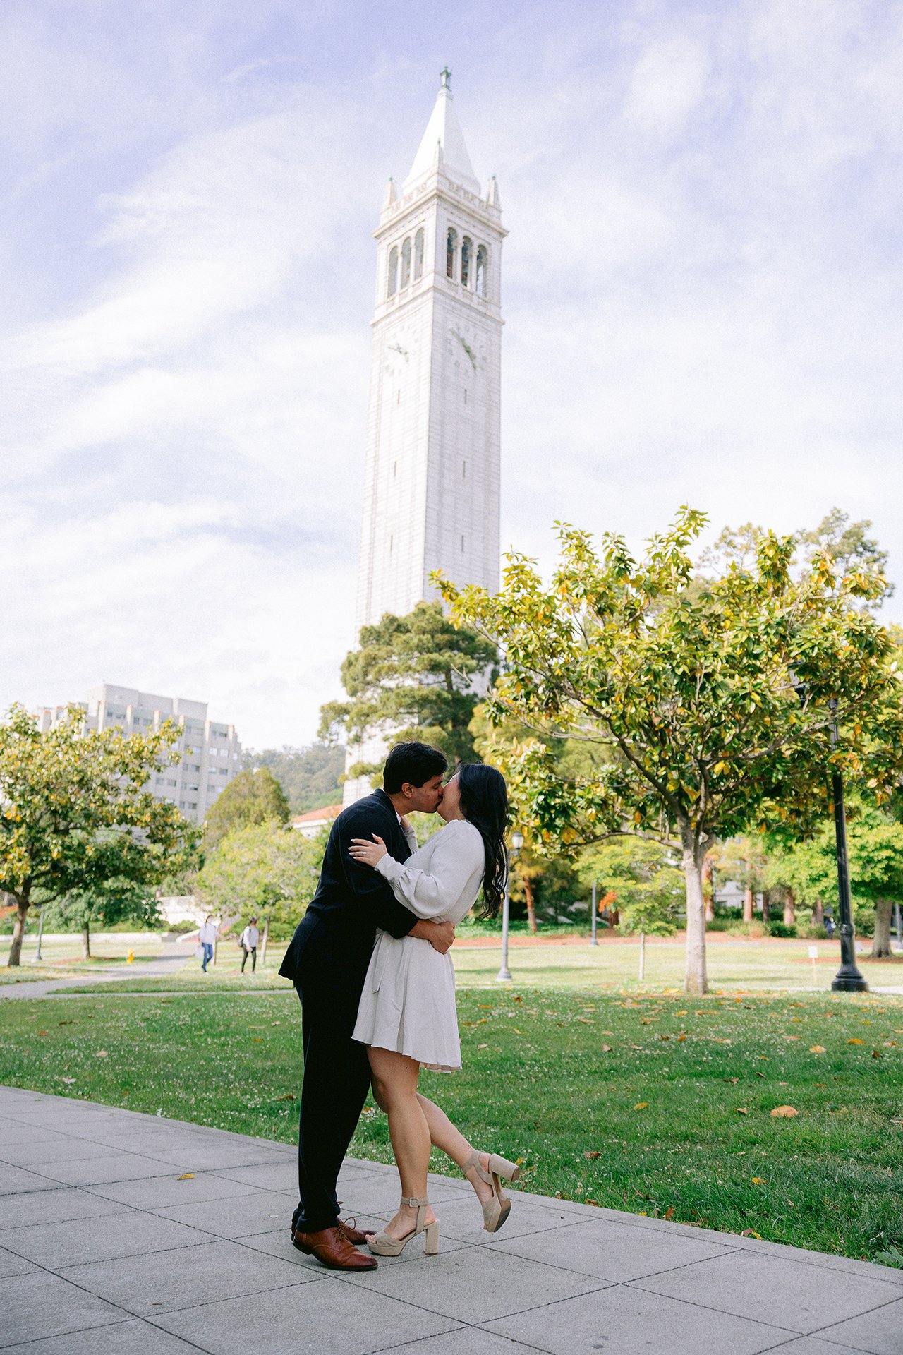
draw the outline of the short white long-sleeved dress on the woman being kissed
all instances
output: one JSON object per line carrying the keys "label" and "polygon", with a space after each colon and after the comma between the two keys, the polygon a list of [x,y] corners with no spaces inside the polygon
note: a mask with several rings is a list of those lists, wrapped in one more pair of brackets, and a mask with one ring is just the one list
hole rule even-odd
{"label": "short white long-sleeved dress on the woman being kissed", "polygon": [[[485,870],[483,839],[452,818],[406,862],[383,856],[376,870],[417,917],[459,923],[477,902]],[[353,1038],[393,1049],[436,1072],[460,1068],[455,966],[428,940],[376,932]]]}

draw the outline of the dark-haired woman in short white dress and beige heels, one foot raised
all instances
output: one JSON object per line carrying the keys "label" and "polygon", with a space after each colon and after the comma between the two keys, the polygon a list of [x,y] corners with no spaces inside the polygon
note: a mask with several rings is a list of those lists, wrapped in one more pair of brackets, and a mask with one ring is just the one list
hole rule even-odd
{"label": "dark-haired woman in short white dress and beige heels, one foot raised", "polygon": [[[351,854],[374,866],[395,897],[417,917],[459,923],[483,892],[483,913],[501,905],[508,860],[508,791],[494,767],[463,763],[443,791],[439,814],[445,827],[406,862],[386,851],[380,837],[352,840]],[[410,825],[402,828],[416,848]],[[376,932],[376,944],[357,1009],[355,1039],[367,1045],[374,1096],[389,1115],[401,1207],[384,1232],[368,1237],[371,1252],[397,1256],[418,1233],[435,1255],[439,1222],[426,1198],[429,1149],[435,1144],[467,1176],[483,1209],[483,1226],[495,1233],[510,1213],[501,1179],[517,1180],[520,1168],[497,1153],[477,1152],[448,1115],[417,1091],[421,1068],[460,1068],[455,967],[413,936]]]}

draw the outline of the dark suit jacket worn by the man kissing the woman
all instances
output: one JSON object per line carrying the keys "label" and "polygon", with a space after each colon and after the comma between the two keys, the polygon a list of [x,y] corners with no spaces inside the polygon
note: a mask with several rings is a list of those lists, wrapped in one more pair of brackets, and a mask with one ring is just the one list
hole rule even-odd
{"label": "dark suit jacket worn by the man kissing the woman", "polygon": [[299,984],[302,966],[307,973],[315,966],[343,984],[363,985],[376,928],[406,936],[417,924],[379,871],[348,852],[352,837],[372,840],[374,833],[395,860],[408,860],[410,847],[384,790],[349,805],[332,825],[317,893],[279,967],[283,978]]}

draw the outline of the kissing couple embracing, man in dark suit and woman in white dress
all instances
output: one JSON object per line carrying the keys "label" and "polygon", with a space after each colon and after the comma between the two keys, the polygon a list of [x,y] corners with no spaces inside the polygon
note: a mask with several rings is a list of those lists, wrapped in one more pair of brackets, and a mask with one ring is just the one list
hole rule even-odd
{"label": "kissing couple embracing, man in dark suit and woman in white dress", "polygon": [[[448,951],[481,890],[485,915],[498,912],[508,874],[504,776],[462,763],[443,785],[447,771],[437,748],[391,749],[382,790],[333,822],[317,892],[279,969],[301,999],[305,1051],[292,1241],[333,1270],[372,1270],[375,1256],[398,1256],[420,1233],[425,1252],[436,1253],[431,1145],[470,1180],[490,1233],[510,1213],[502,1179],[520,1175],[506,1159],[474,1149],[417,1091],[421,1068],[460,1068]],[[406,817],[413,812],[445,821],[420,850]],[[344,1222],[336,1195],[370,1087],[389,1115],[401,1176],[398,1213],[375,1234]]]}

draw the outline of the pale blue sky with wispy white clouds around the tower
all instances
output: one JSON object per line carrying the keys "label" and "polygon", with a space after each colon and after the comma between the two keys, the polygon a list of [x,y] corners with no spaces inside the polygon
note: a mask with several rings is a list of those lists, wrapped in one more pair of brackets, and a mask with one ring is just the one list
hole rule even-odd
{"label": "pale blue sky with wispy white clouds around the tower", "polygon": [[4,0],[0,709],[314,737],[353,642],[374,243],[437,73],[504,259],[502,542],[839,505],[903,618],[903,7]]}

